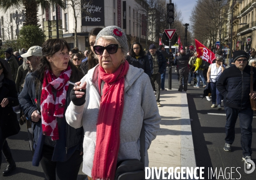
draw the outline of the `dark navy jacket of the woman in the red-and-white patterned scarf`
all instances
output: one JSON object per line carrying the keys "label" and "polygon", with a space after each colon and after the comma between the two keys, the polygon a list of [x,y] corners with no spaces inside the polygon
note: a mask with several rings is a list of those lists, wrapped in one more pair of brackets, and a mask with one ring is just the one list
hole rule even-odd
{"label": "dark navy jacket of the woman in the red-and-white patterned scarf", "polygon": [[[71,77],[72,78],[72,75]],[[77,79],[77,81],[80,81],[80,79]],[[36,82],[36,83],[35,83]],[[35,110],[39,110],[40,111],[40,99],[41,99],[41,91],[42,91],[42,82],[39,82],[38,79],[38,75],[36,74],[36,72],[33,73],[29,73],[26,76],[25,79],[25,83],[24,83],[24,87],[23,90],[21,91],[20,95],[19,95],[19,102],[20,102],[20,106],[23,110],[23,112],[25,113],[26,117],[29,119],[29,121],[31,120],[31,115]],[[65,110],[64,110],[64,116],[63,116],[63,125],[65,125],[64,127],[66,127],[66,132],[65,132],[65,137],[62,137],[62,139],[66,139],[66,144],[64,149],[66,148],[66,154],[69,153],[69,148],[72,148],[76,145],[80,144],[80,151],[82,151],[82,143],[83,143],[83,137],[84,137],[84,131],[83,128],[73,128],[70,125],[67,124],[66,122],[66,118],[65,118],[65,112],[67,110],[67,106],[70,104],[71,100],[70,100],[70,91],[74,86],[69,84],[68,90],[67,90],[67,103],[65,105]],[[37,90],[37,92],[36,92]],[[35,99],[37,101],[35,101]],[[34,149],[35,149],[35,154],[32,160],[32,165],[34,166],[38,166],[39,162],[42,158],[42,148],[44,145],[44,139],[45,136],[42,134],[42,120],[40,119],[38,122],[32,122],[32,129],[33,129],[33,139],[34,139]],[[60,131],[60,130],[59,130]],[[61,140],[61,136],[60,139]],[[58,143],[58,141],[56,142],[56,145]],[[55,148],[56,149],[56,148]],[[55,150],[58,151],[58,150]],[[62,151],[61,151],[62,152]],[[54,158],[54,157],[53,157]],[[62,158],[62,157],[60,157]],[[63,157],[64,158],[64,157]],[[65,160],[62,160],[65,161]]]}

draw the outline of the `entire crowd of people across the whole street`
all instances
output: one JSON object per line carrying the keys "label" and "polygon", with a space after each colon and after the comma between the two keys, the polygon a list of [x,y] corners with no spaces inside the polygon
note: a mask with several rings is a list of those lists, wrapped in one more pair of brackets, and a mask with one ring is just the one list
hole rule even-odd
{"label": "entire crowd of people across the whole street", "polygon": [[[166,90],[172,52],[155,44],[145,51],[138,42],[129,49],[125,32],[117,26],[92,29],[89,43],[90,49],[81,52],[70,49],[63,39],[50,39],[20,53],[8,48],[6,58],[0,59],[0,116],[18,122],[12,107],[20,105],[20,125],[26,123],[32,165],[41,164],[47,180],[76,180],[82,162],[88,180],[113,180],[118,162],[140,160],[144,131],[143,163],[148,166],[148,148],[160,128],[160,92]],[[181,49],[175,56],[178,91],[186,92],[192,80],[195,88],[208,83],[211,107],[221,110],[223,102],[227,113],[224,150],[231,151],[239,116],[247,161],[252,154],[250,98],[256,99],[256,69],[251,94],[247,63],[250,60],[249,65],[256,67],[256,59],[234,51],[227,68],[224,54],[216,51],[215,61],[207,64],[197,52]],[[19,128],[0,121],[0,151],[8,163],[4,176],[16,168],[6,137]]]}

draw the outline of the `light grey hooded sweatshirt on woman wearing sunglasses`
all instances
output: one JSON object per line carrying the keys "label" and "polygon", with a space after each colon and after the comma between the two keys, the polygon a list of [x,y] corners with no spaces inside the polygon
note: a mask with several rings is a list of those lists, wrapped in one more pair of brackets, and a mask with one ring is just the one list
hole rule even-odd
{"label": "light grey hooded sweatshirt on woman wearing sunglasses", "polygon": [[[83,172],[91,177],[94,151],[96,146],[96,123],[99,114],[100,95],[98,87],[98,67],[88,71],[81,79],[86,81],[86,102],[76,106],[73,102],[67,107],[67,123],[84,128]],[[158,112],[154,91],[148,75],[142,69],[129,66],[125,75],[124,110],[120,125],[120,147],[118,161],[125,159],[140,160],[140,131],[145,125],[145,167],[148,166],[148,148],[157,136],[161,116]]]}

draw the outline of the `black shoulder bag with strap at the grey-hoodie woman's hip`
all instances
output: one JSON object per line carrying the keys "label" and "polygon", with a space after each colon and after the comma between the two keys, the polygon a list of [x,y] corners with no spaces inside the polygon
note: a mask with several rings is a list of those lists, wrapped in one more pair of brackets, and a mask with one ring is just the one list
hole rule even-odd
{"label": "black shoulder bag with strap at the grey-hoodie woman's hip", "polygon": [[116,165],[115,180],[145,180],[145,129],[140,131],[140,160],[122,160]]}

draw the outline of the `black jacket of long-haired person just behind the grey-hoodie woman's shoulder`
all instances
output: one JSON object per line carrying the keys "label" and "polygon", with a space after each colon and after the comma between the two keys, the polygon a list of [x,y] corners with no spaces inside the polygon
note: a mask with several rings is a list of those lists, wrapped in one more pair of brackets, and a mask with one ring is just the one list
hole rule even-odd
{"label": "black jacket of long-haired person just behind the grey-hoodie woman's shoulder", "polygon": [[136,59],[135,57],[127,56],[126,60],[129,64],[133,65],[134,67],[143,69],[144,73],[146,73],[149,76],[149,78],[151,78],[151,68],[147,55],[139,57],[138,59]]}

